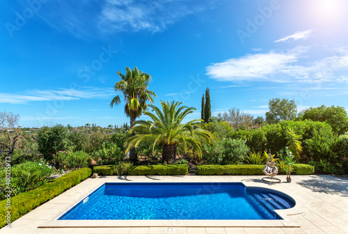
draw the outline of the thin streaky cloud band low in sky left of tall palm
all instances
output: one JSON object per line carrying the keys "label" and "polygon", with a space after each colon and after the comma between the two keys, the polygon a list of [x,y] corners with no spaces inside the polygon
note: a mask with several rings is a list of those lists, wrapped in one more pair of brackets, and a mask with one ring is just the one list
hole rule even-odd
{"label": "thin streaky cloud band low in sky left of tall palm", "polygon": [[52,100],[102,99],[114,95],[112,88],[80,87],[79,90],[61,88],[58,90],[31,90],[23,93],[0,93],[0,103],[27,104],[28,102]]}

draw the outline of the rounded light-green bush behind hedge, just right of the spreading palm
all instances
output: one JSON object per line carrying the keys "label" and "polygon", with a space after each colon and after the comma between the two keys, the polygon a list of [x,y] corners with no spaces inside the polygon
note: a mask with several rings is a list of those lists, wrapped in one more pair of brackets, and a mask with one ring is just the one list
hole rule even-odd
{"label": "rounded light-green bush behind hedge, just right of the spreading palm", "polygon": [[244,161],[249,148],[243,139],[222,139],[204,145],[203,158],[209,164],[237,164]]}

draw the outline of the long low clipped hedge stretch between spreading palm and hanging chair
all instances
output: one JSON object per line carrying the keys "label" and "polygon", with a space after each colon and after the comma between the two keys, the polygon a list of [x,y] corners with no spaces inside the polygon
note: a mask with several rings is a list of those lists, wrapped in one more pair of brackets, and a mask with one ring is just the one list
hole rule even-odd
{"label": "long low clipped hedge stretch between spreading palm and hanging chair", "polygon": [[264,165],[198,165],[198,175],[263,175]]}

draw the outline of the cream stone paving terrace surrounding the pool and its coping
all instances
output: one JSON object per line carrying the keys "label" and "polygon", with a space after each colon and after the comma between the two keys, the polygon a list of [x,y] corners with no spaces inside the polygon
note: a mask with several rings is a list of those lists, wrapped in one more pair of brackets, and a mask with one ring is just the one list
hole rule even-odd
{"label": "cream stone paving terrace surrounding the pool and its coping", "polygon": [[[277,176],[278,177],[278,176]],[[285,181],[285,176],[279,176],[281,182],[278,185],[270,185],[271,189],[283,189],[285,192],[296,191],[296,196],[306,204],[306,210],[302,214],[290,216],[290,221],[294,221],[301,228],[257,228],[258,221],[255,221],[255,228],[37,228],[51,219],[58,216],[71,207],[86,194],[102,185],[106,181],[118,182],[240,182],[244,181],[248,185],[264,186],[267,185],[262,180],[262,176],[104,176],[97,179],[88,179],[72,189],[57,196],[29,214],[13,222],[12,228],[1,228],[0,234],[97,234],[97,233],[348,233],[348,180],[333,178],[332,176],[292,176],[292,183]],[[210,224],[214,221],[209,221]],[[240,224],[248,223],[241,221]],[[261,222],[260,222],[261,224]],[[274,223],[276,224],[276,222]],[[269,224],[272,226],[273,223]]]}

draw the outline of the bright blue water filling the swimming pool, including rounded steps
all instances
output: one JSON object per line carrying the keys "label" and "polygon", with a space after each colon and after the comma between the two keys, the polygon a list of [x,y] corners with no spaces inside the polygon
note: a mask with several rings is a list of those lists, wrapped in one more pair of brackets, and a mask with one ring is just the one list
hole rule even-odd
{"label": "bright blue water filling the swimming pool, including rounded steps", "polygon": [[280,219],[293,206],[242,183],[105,183],[59,219]]}

